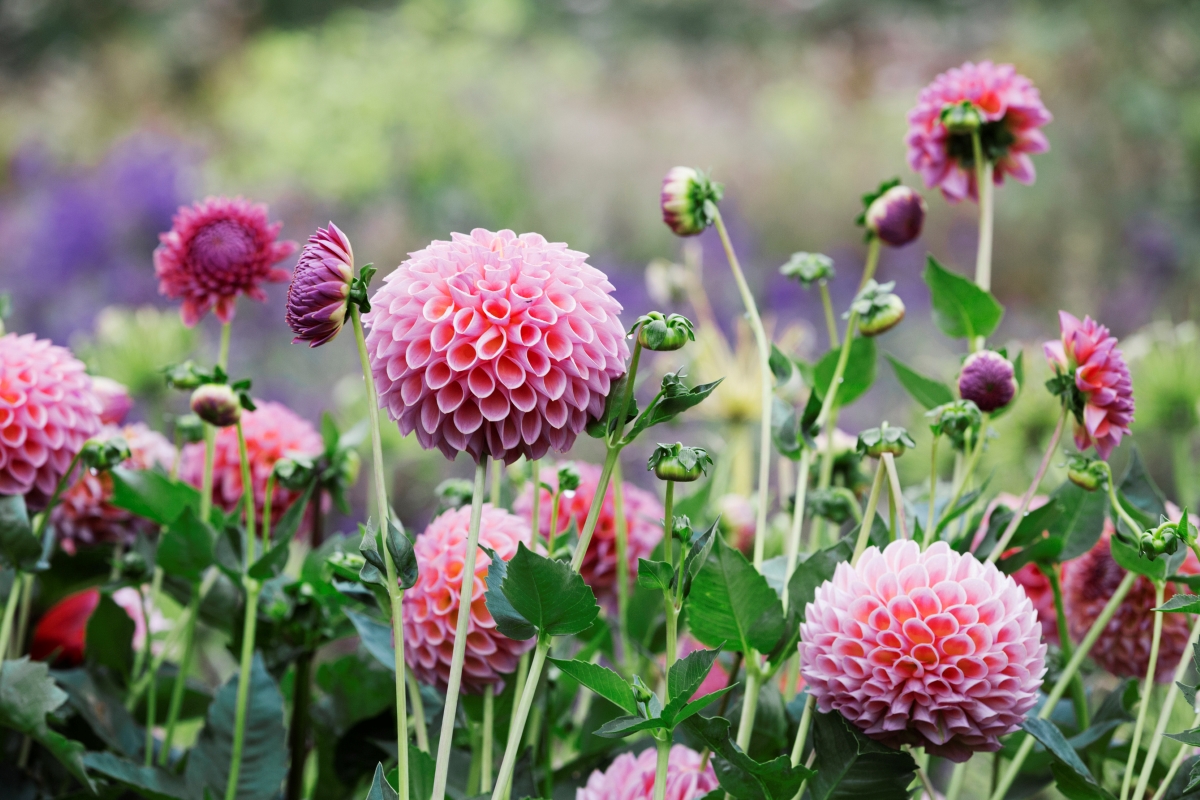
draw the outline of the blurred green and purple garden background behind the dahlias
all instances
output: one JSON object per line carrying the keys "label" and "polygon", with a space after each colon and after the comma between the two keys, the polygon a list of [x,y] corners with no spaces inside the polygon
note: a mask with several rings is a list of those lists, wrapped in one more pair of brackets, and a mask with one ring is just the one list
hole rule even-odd
{"label": "blurred green and purple garden background behind the dahlias", "polygon": [[[1007,314],[995,343],[1027,348],[1027,391],[1000,426],[1014,435],[988,455],[985,469],[1003,467],[994,487],[1024,487],[1040,456],[1054,402],[1039,345],[1067,308],[1133,337],[1138,441],[1194,505],[1200,5],[1183,1],[0,0],[7,327],[73,345],[161,417],[179,398],[155,368],[193,347],[210,361],[216,320],[185,331],[150,254],[176,206],[210,193],[269,203],[299,241],[334,219],[384,273],[451,230],[536,230],[590,253],[628,321],[652,307],[696,318],[672,291],[666,265],[683,248],[658,207],[662,174],[691,164],[726,185],[776,339],[815,359],[828,347],[818,297],[778,267],[793,251],[830,254],[834,302],[848,303],[865,252],[859,196],[892,176],[918,182],[907,110],[938,72],[982,59],[1015,64],[1055,115],[1037,184],[997,192]],[[949,381],[962,354],[929,321],[920,270],[926,252],[972,267],[977,211],[926,199],[924,236],[883,255],[880,278],[896,282],[908,319],[880,344]],[[712,231],[698,243],[691,269],[736,342],[728,267]],[[313,421],[331,409],[353,422],[353,343],[292,345],[284,293],[240,303],[232,372]],[[708,417],[754,414],[736,389]],[[854,433],[884,417],[925,432],[881,360],[841,420]],[[464,468],[398,435],[391,446],[397,505],[415,517]],[[641,480],[635,455],[628,464]],[[902,464],[917,477],[928,457]]]}

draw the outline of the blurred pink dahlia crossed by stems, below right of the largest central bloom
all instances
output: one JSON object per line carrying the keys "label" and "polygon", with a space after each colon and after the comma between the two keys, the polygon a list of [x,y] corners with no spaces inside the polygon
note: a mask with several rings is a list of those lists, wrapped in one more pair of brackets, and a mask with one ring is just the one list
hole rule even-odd
{"label": "blurred pink dahlia crossed by stems, below right of the largest central bloom", "polygon": [[[575,462],[575,468],[580,473],[580,488],[574,493],[564,492],[558,500],[558,535],[562,536],[575,522],[577,531],[583,530],[587,522],[588,510],[592,507],[592,499],[600,486],[600,468],[595,464]],[[548,469],[545,464],[541,468],[541,482],[551,487],[558,486],[557,470]],[[628,481],[622,485],[623,499],[625,501],[625,525],[629,531],[629,546],[625,557],[629,563],[630,577],[637,575],[637,559],[649,558],[654,547],[662,540],[662,504],[658,497],[641,489]],[[552,495],[548,491],[541,491],[541,499],[538,505],[538,533],[550,537],[550,511]],[[512,510],[526,521],[533,516],[533,486],[526,488],[516,501]],[[613,487],[610,482],[608,491],[604,495],[604,504],[600,506],[600,517],[596,519],[595,531],[592,534],[592,543],[583,557],[583,565],[580,575],[592,591],[601,600],[613,600],[617,596],[617,501]]]}

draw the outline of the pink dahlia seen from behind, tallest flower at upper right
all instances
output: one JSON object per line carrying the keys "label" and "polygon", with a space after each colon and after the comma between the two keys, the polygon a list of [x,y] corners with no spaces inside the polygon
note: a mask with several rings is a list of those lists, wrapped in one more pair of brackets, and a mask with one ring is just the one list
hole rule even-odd
{"label": "pink dahlia seen from behind, tallest flower at upper right", "polygon": [[1040,130],[1052,119],[1050,112],[1033,83],[1013,65],[967,61],[934,78],[908,112],[908,166],[925,186],[941,188],[952,203],[979,197],[971,134],[952,133],[942,121],[942,110],[962,101],[970,101],[979,114],[980,144],[984,157],[995,164],[995,182],[1003,184],[1004,175],[1012,175],[1032,184],[1030,156],[1050,149]]}

